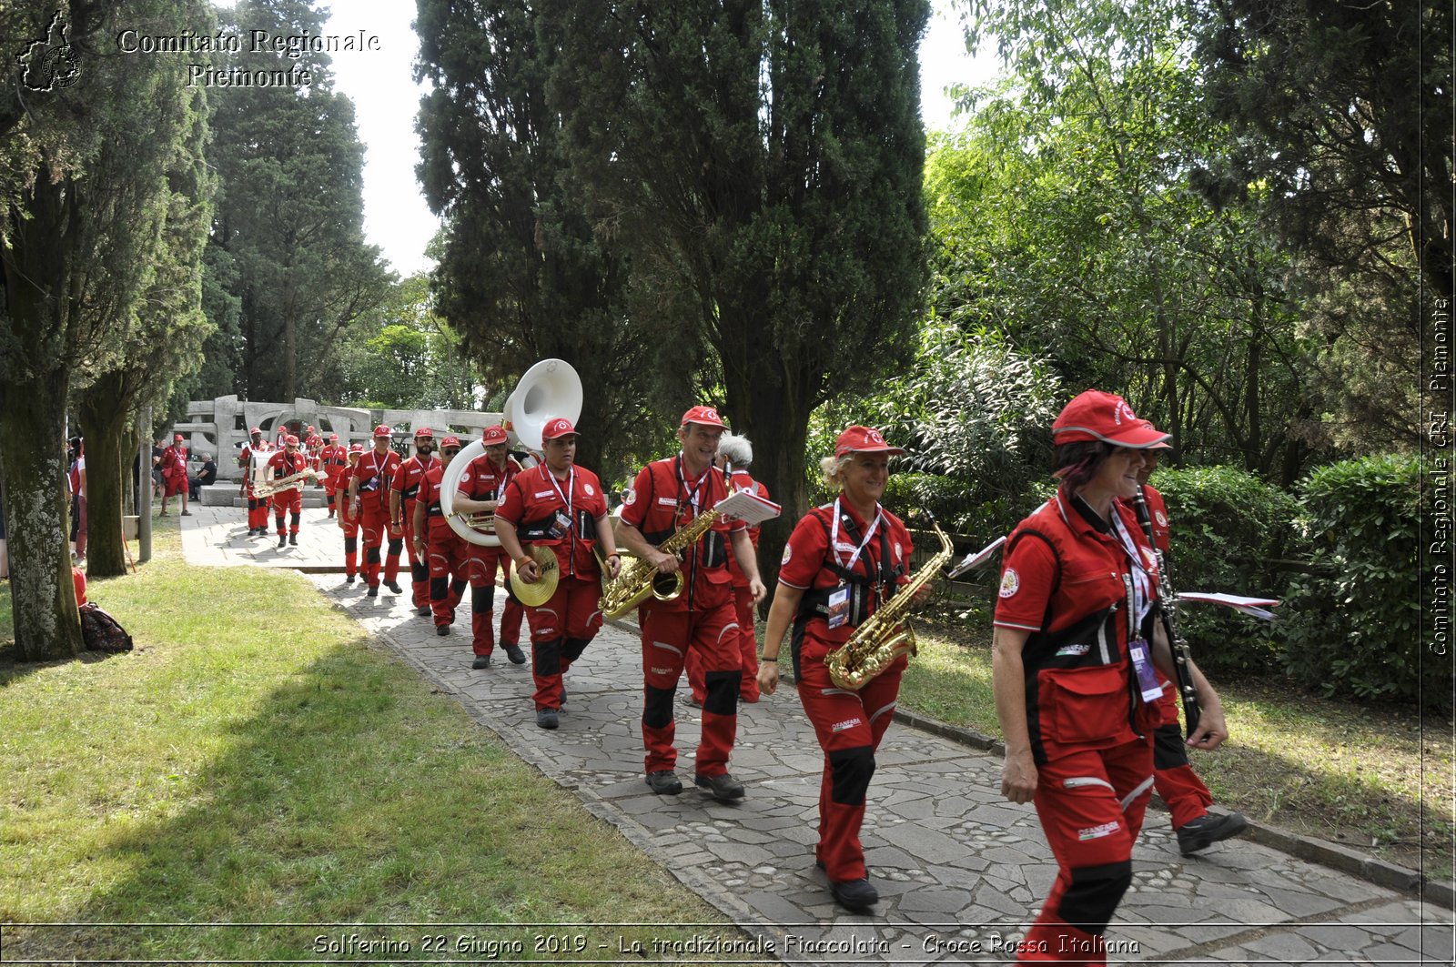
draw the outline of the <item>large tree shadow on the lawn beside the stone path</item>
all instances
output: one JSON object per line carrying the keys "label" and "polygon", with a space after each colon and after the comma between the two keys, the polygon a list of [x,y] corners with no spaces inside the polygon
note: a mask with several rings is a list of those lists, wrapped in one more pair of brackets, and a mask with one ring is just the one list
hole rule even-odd
{"label": "large tree shadow on the lawn beside the stone path", "polygon": [[[103,926],[9,928],[7,954],[393,960],[418,958],[421,938],[440,932],[409,923],[480,925],[450,932],[451,942],[470,934],[488,944],[542,932],[507,923],[700,917],[700,907],[664,903],[665,874],[616,830],[364,641],[284,671],[285,683],[256,699],[221,676],[204,699],[179,696],[175,728],[157,741],[207,733],[198,747],[215,754],[138,776],[146,789],[127,794],[157,807],[149,818],[128,816],[125,802],[92,802],[105,814],[87,827],[92,869],[54,869],[73,880],[36,884],[87,899],[35,909]],[[249,712],[217,717],[229,702]],[[175,814],[150,818],[173,804]],[[93,875],[103,884],[95,891]],[[349,951],[351,935],[381,945]]]}

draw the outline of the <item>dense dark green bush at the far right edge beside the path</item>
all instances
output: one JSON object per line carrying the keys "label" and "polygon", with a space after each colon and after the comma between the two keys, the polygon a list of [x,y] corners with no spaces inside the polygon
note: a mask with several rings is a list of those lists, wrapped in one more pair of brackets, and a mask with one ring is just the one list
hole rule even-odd
{"label": "dense dark green bush at the far right edge beside the path", "polygon": [[1284,664],[1325,695],[1450,711],[1450,658],[1423,654],[1418,527],[1423,465],[1374,456],[1315,470],[1300,529],[1316,574],[1290,588]]}

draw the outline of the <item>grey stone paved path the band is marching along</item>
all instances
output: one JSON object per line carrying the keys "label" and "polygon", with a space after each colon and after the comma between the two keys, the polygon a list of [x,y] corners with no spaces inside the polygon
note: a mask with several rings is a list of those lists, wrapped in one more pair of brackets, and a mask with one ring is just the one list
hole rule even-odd
{"label": "grey stone paved path the band is marching along", "polygon": [[[862,836],[881,903],[875,916],[849,915],[814,867],[823,760],[792,687],[740,711],[731,769],[748,786],[741,804],[690,785],[657,797],[642,782],[630,626],[603,629],[568,676],[561,728],[546,733],[529,666],[496,652],[491,668],[470,670],[469,596],[454,634],[440,638],[408,607],[408,585],[376,600],[344,585],[339,532],[322,510],[304,511],[297,548],[243,532],[242,511],[195,508],[183,552],[197,564],[312,571],[322,594],[786,963],[1003,963],[999,947],[1025,929],[1056,875],[1035,813],[999,795],[997,757],[897,724],[877,757]],[[677,706],[678,775],[689,779],[699,724],[696,709]],[[1233,840],[1185,859],[1166,814],[1150,811],[1133,861],[1108,931],[1111,963],[1452,963],[1450,909],[1270,846]]]}

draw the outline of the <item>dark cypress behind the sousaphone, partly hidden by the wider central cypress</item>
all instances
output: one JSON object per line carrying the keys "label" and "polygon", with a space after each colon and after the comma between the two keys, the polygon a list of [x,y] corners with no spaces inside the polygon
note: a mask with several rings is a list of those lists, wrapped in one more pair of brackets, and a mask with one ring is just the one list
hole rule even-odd
{"label": "dark cypress behind the sousaphone, partly hidden by the wider central cypress", "polygon": [[[537,360],[582,379],[579,459],[604,476],[651,446],[700,358],[636,310],[622,239],[594,233],[546,83],[559,44],[526,0],[421,0],[419,179],[446,221],[435,312],[486,382],[507,389]],[[527,441],[537,446],[537,441]]]}

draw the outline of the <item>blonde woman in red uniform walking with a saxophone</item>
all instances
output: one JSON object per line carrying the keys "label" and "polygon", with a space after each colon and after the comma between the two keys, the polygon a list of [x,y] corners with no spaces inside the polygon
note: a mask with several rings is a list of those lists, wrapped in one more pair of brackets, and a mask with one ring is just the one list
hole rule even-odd
{"label": "blonde woman in red uniform walking with a saxophone", "polygon": [[759,666],[759,687],[773,695],[779,645],[792,623],[794,680],[824,749],[815,859],[834,900],[850,910],[879,900],[865,871],[859,827],[875,749],[890,727],[907,660],[900,655],[853,692],[830,680],[824,657],[909,580],[910,532],[879,505],[890,457],[903,453],[869,427],[849,427],[839,435],[834,456],[820,465],[839,497],[805,514],[783,548]]}

